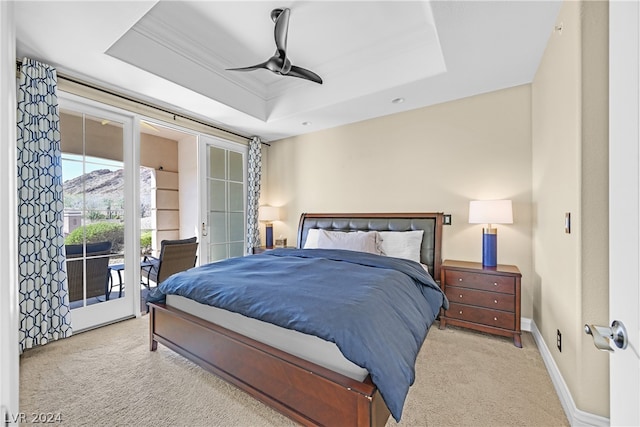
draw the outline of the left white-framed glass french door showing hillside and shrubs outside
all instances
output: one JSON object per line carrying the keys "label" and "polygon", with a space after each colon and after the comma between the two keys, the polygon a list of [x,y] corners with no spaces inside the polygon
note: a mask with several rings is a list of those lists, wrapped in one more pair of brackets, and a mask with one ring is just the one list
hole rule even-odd
{"label": "left white-framed glass french door showing hillside and shrubs outside", "polygon": [[139,167],[134,123],[132,116],[61,96],[66,267],[76,332],[138,312]]}

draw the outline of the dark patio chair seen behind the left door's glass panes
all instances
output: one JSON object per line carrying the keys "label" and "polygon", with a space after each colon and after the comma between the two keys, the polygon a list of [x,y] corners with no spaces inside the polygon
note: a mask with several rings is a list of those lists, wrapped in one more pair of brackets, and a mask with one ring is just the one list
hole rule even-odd
{"label": "dark patio chair seen behind the left door's glass panes", "polygon": [[82,300],[83,264],[86,265],[87,296],[106,295],[109,289],[109,255],[111,242],[87,243],[86,261],[83,263],[83,245],[65,245],[67,255],[67,282],[69,302]]}

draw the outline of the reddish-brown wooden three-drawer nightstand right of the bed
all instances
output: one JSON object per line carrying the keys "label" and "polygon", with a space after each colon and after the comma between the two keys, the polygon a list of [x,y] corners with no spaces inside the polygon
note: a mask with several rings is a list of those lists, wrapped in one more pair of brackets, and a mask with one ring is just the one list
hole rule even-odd
{"label": "reddish-brown wooden three-drawer nightstand right of the bed", "polygon": [[513,337],[513,344],[522,348],[518,267],[445,260],[440,272],[440,286],[449,299],[449,310],[440,310],[440,329],[451,324]]}

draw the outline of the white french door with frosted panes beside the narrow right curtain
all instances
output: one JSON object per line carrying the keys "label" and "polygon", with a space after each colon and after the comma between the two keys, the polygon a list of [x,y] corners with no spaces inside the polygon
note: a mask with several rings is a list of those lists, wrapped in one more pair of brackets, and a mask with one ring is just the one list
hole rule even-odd
{"label": "white french door with frosted panes beside the narrow right curtain", "polygon": [[243,256],[246,242],[247,147],[200,137],[202,263]]}

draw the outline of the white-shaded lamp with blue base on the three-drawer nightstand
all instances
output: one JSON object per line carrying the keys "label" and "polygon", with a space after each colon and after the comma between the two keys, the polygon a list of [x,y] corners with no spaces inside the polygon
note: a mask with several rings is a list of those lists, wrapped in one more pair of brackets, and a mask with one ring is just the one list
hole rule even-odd
{"label": "white-shaded lamp with blue base on the three-drawer nightstand", "polygon": [[487,224],[482,229],[482,266],[495,267],[498,253],[498,230],[492,224],[513,224],[511,200],[472,200],[469,224]]}

